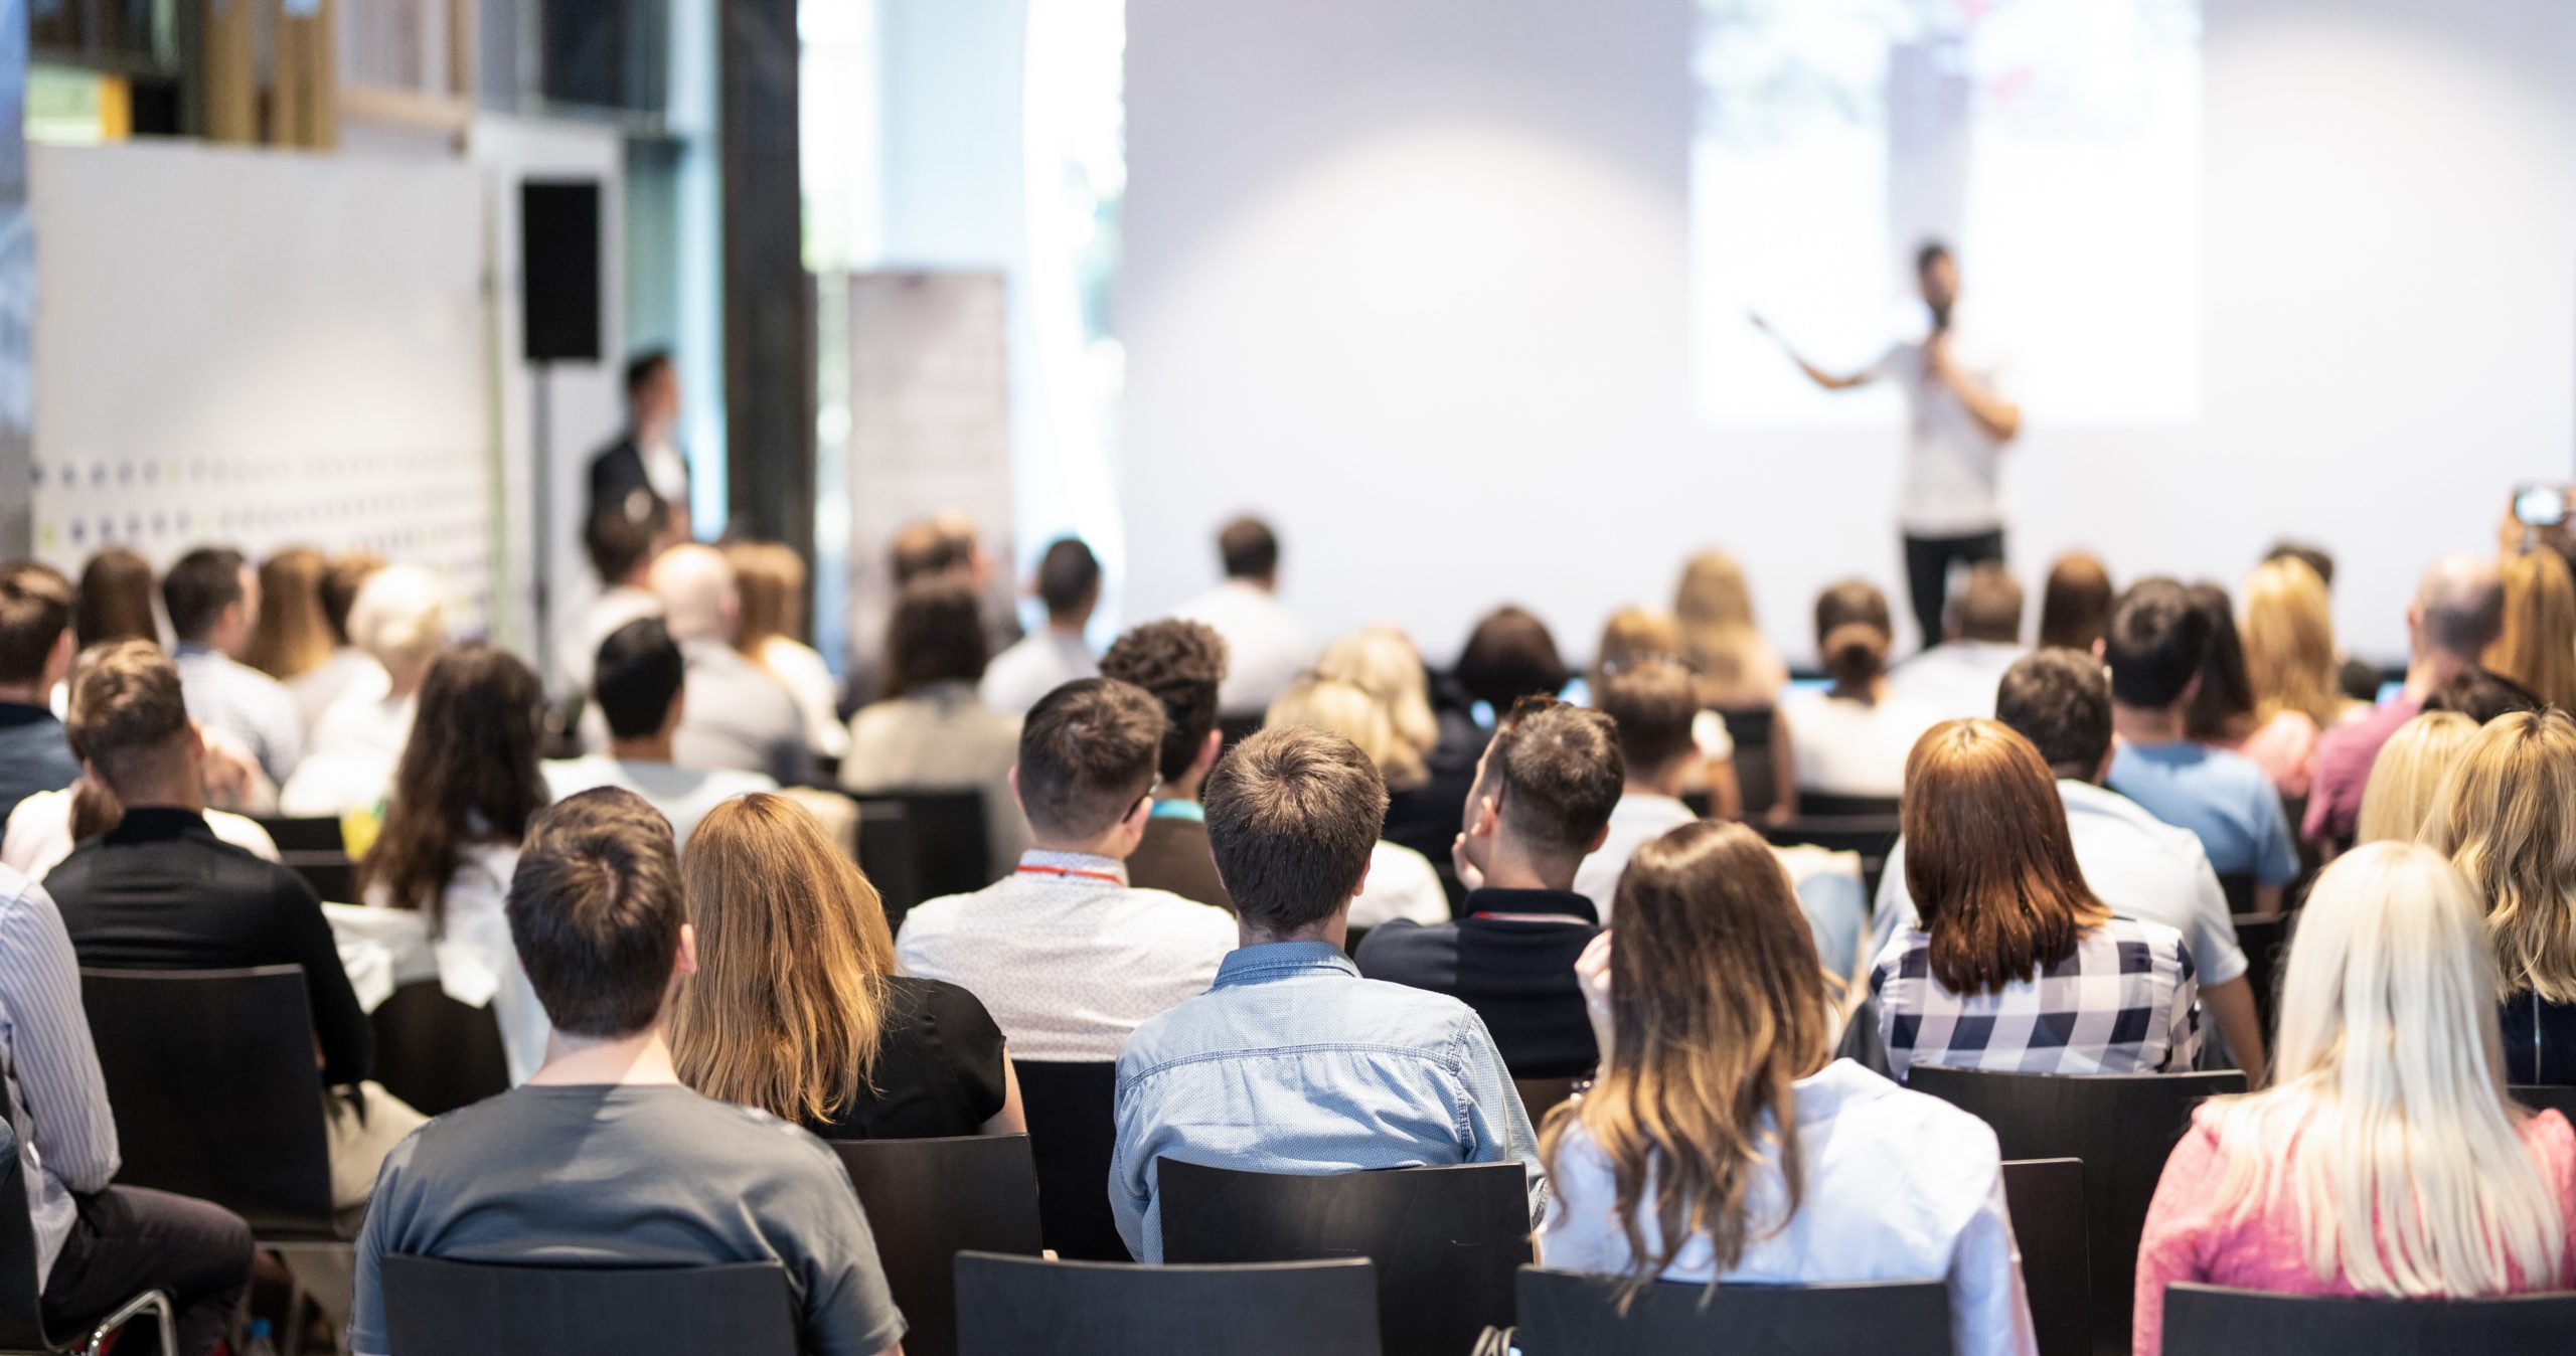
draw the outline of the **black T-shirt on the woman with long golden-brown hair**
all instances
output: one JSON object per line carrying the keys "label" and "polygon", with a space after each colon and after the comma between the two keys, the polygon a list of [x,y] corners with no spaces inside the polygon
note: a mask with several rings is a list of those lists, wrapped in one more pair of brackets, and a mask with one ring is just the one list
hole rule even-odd
{"label": "black T-shirt on the woman with long golden-brown hair", "polygon": [[984,1003],[948,980],[886,978],[886,1027],[876,1045],[873,1088],[824,1124],[824,1140],[935,1140],[974,1135],[1002,1112],[1002,1027]]}

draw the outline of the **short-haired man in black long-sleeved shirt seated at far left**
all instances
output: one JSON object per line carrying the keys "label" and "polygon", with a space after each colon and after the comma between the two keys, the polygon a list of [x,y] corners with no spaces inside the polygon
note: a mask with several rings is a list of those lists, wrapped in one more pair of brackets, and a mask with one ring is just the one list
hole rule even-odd
{"label": "short-haired man in black long-sleeved shirt seated at far left", "polygon": [[[72,677],[85,782],[80,847],[46,875],[80,962],[100,970],[304,967],[330,1130],[332,1202],[366,1199],[376,1163],[420,1114],[366,1083],[374,1037],[304,877],[206,826],[206,744],[178,669],[139,641],[90,651]],[[317,1088],[319,1091],[319,1088]]]}

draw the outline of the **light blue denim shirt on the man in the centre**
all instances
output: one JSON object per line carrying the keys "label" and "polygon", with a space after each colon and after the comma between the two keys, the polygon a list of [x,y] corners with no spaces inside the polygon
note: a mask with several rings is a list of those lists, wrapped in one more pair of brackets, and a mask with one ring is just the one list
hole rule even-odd
{"label": "light blue denim shirt on the man in the centre", "polygon": [[1448,1163],[1548,1173],[1520,1091],[1476,1009],[1363,980],[1329,942],[1244,947],[1216,983],[1146,1022],[1118,1055],[1110,1209],[1136,1261],[1162,1261],[1157,1158],[1252,1173]]}

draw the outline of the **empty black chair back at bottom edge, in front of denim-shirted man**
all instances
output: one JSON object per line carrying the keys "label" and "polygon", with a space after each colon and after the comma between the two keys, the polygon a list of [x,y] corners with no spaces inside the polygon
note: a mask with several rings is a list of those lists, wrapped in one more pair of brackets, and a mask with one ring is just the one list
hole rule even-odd
{"label": "empty black chair back at bottom edge, in front of denim-shirted man", "polygon": [[958,1356],[1216,1353],[1378,1356],[1376,1269],[1363,1258],[1121,1266],[958,1253]]}

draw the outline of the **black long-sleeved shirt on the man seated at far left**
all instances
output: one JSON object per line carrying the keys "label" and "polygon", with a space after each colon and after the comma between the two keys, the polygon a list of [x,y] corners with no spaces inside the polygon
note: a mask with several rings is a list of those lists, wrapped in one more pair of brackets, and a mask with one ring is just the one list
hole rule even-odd
{"label": "black long-sleeved shirt on the man seated at far left", "polygon": [[72,952],[100,970],[240,970],[301,965],[322,1037],[322,1081],[368,1076],[366,1011],[348,988],[322,901],[304,877],[222,839],[206,816],[134,808],[82,839],[44,877]]}

